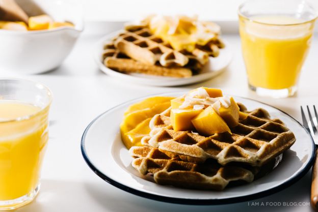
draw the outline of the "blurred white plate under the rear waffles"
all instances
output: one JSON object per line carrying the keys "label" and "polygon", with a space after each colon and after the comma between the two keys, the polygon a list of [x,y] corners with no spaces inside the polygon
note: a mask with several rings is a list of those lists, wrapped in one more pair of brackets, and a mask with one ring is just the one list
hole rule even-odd
{"label": "blurred white plate under the rear waffles", "polygon": [[102,51],[103,45],[105,42],[110,41],[121,31],[111,33],[107,36],[101,38],[96,46],[94,57],[99,69],[113,77],[126,82],[133,82],[137,84],[152,85],[152,86],[177,86],[177,85],[186,85],[196,82],[201,82],[210,78],[213,78],[223,72],[225,68],[230,64],[232,59],[232,50],[230,44],[227,41],[224,41],[225,48],[220,49],[220,55],[217,57],[209,57],[209,62],[203,68],[203,70],[198,75],[187,78],[176,78],[176,77],[161,77],[161,76],[151,76],[145,74],[124,74],[112,69],[107,68],[103,65],[102,62]]}

